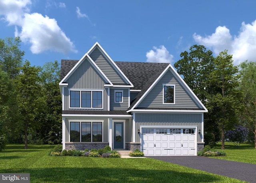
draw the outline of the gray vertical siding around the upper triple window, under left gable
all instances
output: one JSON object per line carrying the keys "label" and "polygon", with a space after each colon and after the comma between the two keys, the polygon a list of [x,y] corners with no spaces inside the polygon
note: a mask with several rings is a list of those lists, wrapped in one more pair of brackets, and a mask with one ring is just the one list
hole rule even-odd
{"label": "gray vertical siding around the upper triple window, under left gable", "polygon": [[66,81],[68,87],[64,88],[64,110],[80,110],[69,108],[69,89],[104,89],[103,109],[83,109],[83,110],[107,110],[108,91],[104,88],[107,81],[99,75],[98,71],[85,59]]}

